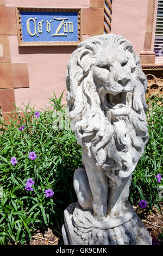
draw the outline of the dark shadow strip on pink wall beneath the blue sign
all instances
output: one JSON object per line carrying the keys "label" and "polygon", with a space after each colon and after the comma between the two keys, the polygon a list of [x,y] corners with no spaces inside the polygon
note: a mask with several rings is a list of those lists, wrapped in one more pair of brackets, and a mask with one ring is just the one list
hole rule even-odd
{"label": "dark shadow strip on pink wall beneath the blue sign", "polygon": [[32,46],[32,47],[19,47],[19,54],[36,54],[36,53],[44,53],[44,54],[65,54],[72,53],[77,49],[77,46]]}

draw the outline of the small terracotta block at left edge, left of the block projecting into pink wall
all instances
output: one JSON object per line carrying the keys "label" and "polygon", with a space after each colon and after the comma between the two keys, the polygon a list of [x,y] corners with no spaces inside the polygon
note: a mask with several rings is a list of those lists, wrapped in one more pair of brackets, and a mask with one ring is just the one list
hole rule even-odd
{"label": "small terracotta block at left edge, left of the block projecting into pink wall", "polygon": [[0,63],[0,88],[14,88],[11,63]]}

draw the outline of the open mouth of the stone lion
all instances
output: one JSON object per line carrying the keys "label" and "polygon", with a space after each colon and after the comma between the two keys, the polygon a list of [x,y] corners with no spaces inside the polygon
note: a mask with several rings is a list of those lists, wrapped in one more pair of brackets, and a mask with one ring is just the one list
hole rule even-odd
{"label": "open mouth of the stone lion", "polygon": [[126,105],[126,96],[127,92],[121,92],[116,94],[115,96],[107,93],[106,94],[106,105],[109,108],[115,107],[117,104],[124,104]]}

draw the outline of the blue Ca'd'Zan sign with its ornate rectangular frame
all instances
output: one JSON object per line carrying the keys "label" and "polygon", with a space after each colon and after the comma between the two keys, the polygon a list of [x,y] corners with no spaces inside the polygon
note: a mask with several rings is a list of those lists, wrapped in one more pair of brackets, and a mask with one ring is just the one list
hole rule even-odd
{"label": "blue Ca'd'Zan sign with its ornate rectangular frame", "polygon": [[19,46],[77,45],[81,9],[17,8]]}

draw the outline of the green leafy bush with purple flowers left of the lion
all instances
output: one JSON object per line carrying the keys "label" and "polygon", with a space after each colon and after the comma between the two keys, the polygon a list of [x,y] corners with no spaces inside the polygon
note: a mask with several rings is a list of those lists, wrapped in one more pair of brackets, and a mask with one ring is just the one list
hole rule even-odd
{"label": "green leafy bush with purple flowers left of the lion", "polygon": [[[7,123],[0,119],[0,244],[23,244],[35,230],[61,224],[64,209],[77,200],[73,172],[82,166],[82,149],[68,129],[61,97],[57,100],[54,94],[52,106],[38,118],[28,104],[24,110],[16,108]],[[56,127],[60,124],[62,130]],[[23,125],[24,130],[18,130]],[[32,151],[35,160],[28,159]],[[17,159],[14,166],[12,156]],[[35,181],[30,192],[25,190],[29,178]],[[48,188],[54,191],[52,198],[45,197]]]}

